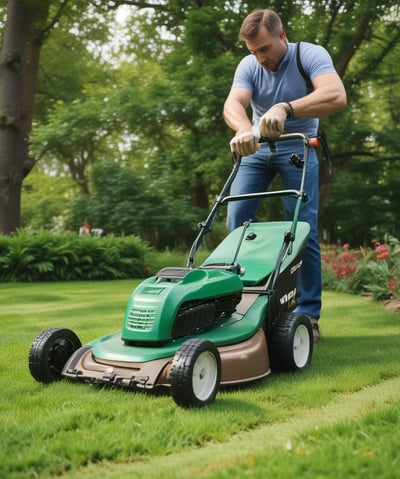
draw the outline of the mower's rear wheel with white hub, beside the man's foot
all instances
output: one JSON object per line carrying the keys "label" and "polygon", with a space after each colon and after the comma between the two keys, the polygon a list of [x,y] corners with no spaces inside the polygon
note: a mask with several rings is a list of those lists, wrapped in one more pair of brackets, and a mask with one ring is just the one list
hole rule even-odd
{"label": "mower's rear wheel with white hub, beside the man's foot", "polygon": [[313,353],[313,332],[308,316],[289,311],[281,314],[272,329],[268,347],[273,369],[306,369]]}

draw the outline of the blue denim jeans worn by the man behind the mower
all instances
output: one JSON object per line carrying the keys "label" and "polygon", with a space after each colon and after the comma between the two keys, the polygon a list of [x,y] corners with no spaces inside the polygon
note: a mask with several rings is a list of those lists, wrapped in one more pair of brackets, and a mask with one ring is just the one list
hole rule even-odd
{"label": "blue denim jeans worn by the man behind the mower", "polygon": [[[300,159],[304,156],[303,143],[300,140],[276,142],[276,151],[272,152],[268,144],[262,144],[261,150],[254,155],[242,158],[239,171],[234,179],[230,194],[245,194],[266,191],[274,177],[281,175],[285,189],[300,189],[302,169],[289,162],[292,153]],[[304,190],[308,201],[303,202],[300,221],[310,225],[310,238],[303,258],[303,264],[297,280],[296,312],[319,318],[321,311],[321,252],[318,242],[318,178],[319,162],[316,151],[310,148]],[[268,201],[268,199],[266,200]],[[283,198],[286,219],[293,217],[296,200]],[[232,201],[228,204],[228,229],[232,231],[247,220],[256,221],[260,200]]]}

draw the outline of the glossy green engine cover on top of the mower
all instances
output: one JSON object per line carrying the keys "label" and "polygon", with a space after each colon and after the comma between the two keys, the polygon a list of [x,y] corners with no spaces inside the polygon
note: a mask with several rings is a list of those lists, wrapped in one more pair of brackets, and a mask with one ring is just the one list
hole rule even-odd
{"label": "glossy green engine cover on top of the mower", "polygon": [[131,295],[122,340],[128,345],[157,345],[205,331],[234,313],[242,289],[242,280],[230,271],[161,270]]}

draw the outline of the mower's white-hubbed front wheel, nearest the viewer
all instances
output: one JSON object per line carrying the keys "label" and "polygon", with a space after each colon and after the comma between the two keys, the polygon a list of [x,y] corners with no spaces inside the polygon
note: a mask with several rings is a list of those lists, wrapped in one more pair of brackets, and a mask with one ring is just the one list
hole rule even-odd
{"label": "mower's white-hubbed front wheel, nearest the viewer", "polygon": [[221,379],[221,359],[214,343],[204,339],[185,341],[174,356],[169,379],[172,397],[179,406],[211,404]]}

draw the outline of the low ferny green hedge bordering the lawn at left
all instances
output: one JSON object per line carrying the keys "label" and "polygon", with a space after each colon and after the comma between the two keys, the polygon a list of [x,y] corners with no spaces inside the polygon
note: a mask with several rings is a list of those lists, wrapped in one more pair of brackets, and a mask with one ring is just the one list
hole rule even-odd
{"label": "low ferny green hedge bordering the lawn at left", "polygon": [[0,282],[104,280],[146,276],[150,247],[136,236],[0,235]]}

